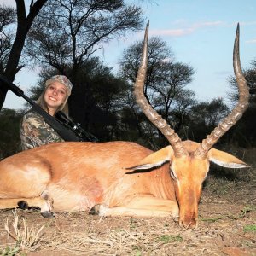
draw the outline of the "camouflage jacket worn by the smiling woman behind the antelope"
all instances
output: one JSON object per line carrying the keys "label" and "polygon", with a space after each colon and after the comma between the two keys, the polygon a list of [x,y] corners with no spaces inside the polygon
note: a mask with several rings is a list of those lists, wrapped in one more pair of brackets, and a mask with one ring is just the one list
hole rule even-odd
{"label": "camouflage jacket worn by the smiling woman behind the antelope", "polygon": [[35,148],[48,143],[64,142],[58,133],[45,123],[37,112],[29,110],[20,125],[21,149]]}

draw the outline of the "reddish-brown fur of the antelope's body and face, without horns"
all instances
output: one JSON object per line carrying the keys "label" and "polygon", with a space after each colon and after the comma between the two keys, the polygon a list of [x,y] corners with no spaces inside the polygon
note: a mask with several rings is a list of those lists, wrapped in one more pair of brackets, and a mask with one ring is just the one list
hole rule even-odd
{"label": "reddish-brown fur of the antelope's body and face, without horns", "polygon": [[[190,141],[183,145],[189,152],[198,147]],[[244,164],[216,149],[209,155]],[[148,164],[149,171],[143,167]],[[133,172],[127,170],[131,166],[137,166]],[[208,159],[193,154],[175,158],[171,146],[153,153],[128,142],[52,143],[0,162],[0,208],[15,207],[19,201],[41,207],[43,213],[52,207],[55,212],[89,211],[101,205],[100,214],[179,214],[180,224],[195,226],[208,167]]]}

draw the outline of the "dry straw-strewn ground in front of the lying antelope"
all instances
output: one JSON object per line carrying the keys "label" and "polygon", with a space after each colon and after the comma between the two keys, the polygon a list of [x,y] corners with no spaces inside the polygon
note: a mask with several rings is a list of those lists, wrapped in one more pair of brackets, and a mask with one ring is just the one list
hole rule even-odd
{"label": "dry straw-strewn ground in front of the lying antelope", "polygon": [[[205,199],[203,196],[202,200]],[[23,253],[33,256],[233,255],[236,248],[241,255],[255,255],[255,209],[248,210],[246,205],[234,205],[224,199],[223,202],[201,203],[204,219],[197,230],[182,230],[172,218],[102,218],[99,222],[100,218],[85,212],[62,213],[55,219],[44,219],[39,212],[18,210],[19,216],[25,217],[35,230],[42,224],[45,226],[44,236],[34,247],[36,251],[26,249]],[[2,217],[11,212],[1,213]],[[229,218],[230,215],[236,218]],[[9,246],[15,246],[15,241]],[[227,248],[230,254],[224,253]]]}

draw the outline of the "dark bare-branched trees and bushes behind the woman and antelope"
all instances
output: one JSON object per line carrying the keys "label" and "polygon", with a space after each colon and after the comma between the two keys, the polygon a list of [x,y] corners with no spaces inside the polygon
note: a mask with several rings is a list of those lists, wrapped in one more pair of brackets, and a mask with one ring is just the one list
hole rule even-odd
{"label": "dark bare-branched trees and bushes behind the woman and antelope", "polygon": [[[53,12],[54,9],[57,12]],[[13,80],[23,67],[40,67],[38,84],[30,88],[28,95],[32,99],[37,99],[49,76],[66,74],[73,82],[69,99],[71,117],[99,141],[128,140],[152,149],[166,145],[166,138],[148,122],[132,95],[142,42],[125,49],[120,56],[118,73],[113,73],[112,67],[96,57],[96,50],[113,38],[142,28],[141,7],[120,0],[38,0],[32,2],[26,20],[23,1],[17,2],[17,10],[16,13],[15,9],[4,6],[0,9],[1,74]],[[14,25],[18,27],[17,32]],[[252,66],[244,70],[250,88],[249,108],[216,147],[255,147],[255,68],[256,61],[252,60]],[[145,96],[181,138],[201,142],[236,103],[237,90],[236,81],[231,77],[229,84],[234,90],[227,96],[230,106],[222,98],[196,101],[195,91],[187,88],[194,73],[193,67],[175,61],[172,49],[161,38],[150,38]],[[0,106],[6,92],[7,88],[0,84]],[[28,107],[0,112],[0,158],[20,151],[20,117]]]}

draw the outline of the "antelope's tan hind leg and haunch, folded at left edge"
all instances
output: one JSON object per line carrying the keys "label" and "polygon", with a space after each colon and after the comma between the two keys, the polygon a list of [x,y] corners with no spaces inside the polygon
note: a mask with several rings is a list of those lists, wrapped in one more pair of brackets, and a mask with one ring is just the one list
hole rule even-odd
{"label": "antelope's tan hind leg and haunch, folded at left edge", "polygon": [[[15,159],[17,157],[17,159]],[[47,191],[51,166],[37,154],[19,154],[0,162],[0,209],[39,207],[44,217],[52,216],[53,201]]]}

